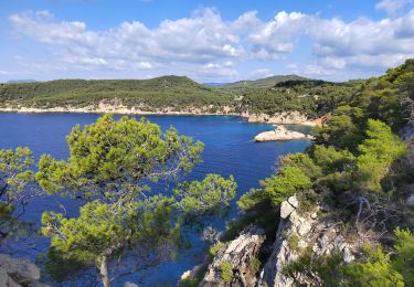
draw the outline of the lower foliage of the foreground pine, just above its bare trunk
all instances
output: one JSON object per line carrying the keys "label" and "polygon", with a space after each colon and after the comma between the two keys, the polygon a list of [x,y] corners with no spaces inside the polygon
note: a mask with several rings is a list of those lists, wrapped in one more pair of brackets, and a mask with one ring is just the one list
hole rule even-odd
{"label": "lower foliage of the foreground pine, just above its bare trunk", "polygon": [[45,212],[42,232],[63,258],[99,266],[104,256],[125,252],[150,255],[173,245],[179,226],[172,223],[172,199],[161,195],[113,204],[95,200],[82,206],[76,219]]}

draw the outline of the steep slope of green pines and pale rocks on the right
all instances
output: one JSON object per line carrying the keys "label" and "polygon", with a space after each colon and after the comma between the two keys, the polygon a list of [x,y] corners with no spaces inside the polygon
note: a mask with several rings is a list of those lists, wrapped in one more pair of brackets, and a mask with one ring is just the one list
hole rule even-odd
{"label": "steep slope of green pines and pale rocks on the right", "polygon": [[357,83],[242,195],[191,286],[414,286],[414,59]]}

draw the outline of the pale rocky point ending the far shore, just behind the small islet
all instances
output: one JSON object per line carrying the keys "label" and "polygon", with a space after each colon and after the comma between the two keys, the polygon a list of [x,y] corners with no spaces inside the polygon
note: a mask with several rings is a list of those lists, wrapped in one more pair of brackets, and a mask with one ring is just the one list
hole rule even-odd
{"label": "pale rocky point ending the far shore, just behind the small islet", "polygon": [[318,126],[322,119],[310,119],[299,111],[283,111],[275,115],[242,113],[241,115],[248,123],[264,123],[274,125],[305,125]]}

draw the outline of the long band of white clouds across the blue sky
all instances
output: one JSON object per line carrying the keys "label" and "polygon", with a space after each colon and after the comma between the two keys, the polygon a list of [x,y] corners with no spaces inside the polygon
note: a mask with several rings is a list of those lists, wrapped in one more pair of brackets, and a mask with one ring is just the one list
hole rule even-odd
{"label": "long band of white clouds across the blue sky", "polygon": [[[412,1],[384,0],[376,9],[396,11]],[[286,60],[295,50],[306,49],[299,47],[302,36],[310,40],[307,62],[312,64],[296,63],[288,68],[310,76],[378,71],[414,56],[414,10],[378,21],[360,18],[347,22],[285,11],[269,21],[258,19],[256,11],[224,21],[216,10],[202,9],[189,18],[164,20],[152,29],[131,21],[105,31],[88,29],[81,21],[56,20],[49,11],[18,13],[9,19],[17,34],[51,50],[59,70],[150,70],[151,74],[172,71],[194,77],[236,77],[241,73],[234,63]],[[40,63],[32,63],[32,67]]]}

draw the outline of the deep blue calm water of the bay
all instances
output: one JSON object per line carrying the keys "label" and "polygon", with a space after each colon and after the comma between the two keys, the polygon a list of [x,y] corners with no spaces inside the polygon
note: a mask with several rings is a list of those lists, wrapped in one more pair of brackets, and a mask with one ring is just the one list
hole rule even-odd
{"label": "deep blue calm water of the bay", "polygon": [[[65,136],[72,127],[76,124],[94,123],[98,115],[95,114],[0,114],[0,149],[26,146],[32,149],[36,159],[44,152],[65,159],[68,156]],[[252,139],[256,134],[269,130],[272,126],[247,124],[238,117],[148,116],[148,118],[163,129],[174,126],[180,134],[203,141],[205,145],[202,155],[203,163],[195,167],[188,179],[202,179],[209,172],[225,177],[233,174],[238,183],[237,198],[251,188],[258,187],[261,179],[274,173],[279,156],[302,151],[309,145],[304,140],[254,142]],[[70,213],[76,213],[77,205],[71,201],[47,196],[31,202],[25,219],[39,222],[43,211],[60,211],[60,203],[65,204]],[[233,206],[230,216],[234,215],[236,209]],[[225,220],[212,221],[212,224],[222,228],[230,216]],[[199,264],[204,257],[202,251],[205,246],[195,231],[190,236],[193,247],[181,253],[176,262],[162,264],[144,274],[145,279],[139,286],[176,286],[183,272]],[[12,244],[8,249],[0,249],[0,252],[9,252],[15,257],[34,261],[36,254],[45,251],[47,246],[47,240],[36,238],[25,244]],[[125,278],[124,281],[137,281],[137,276]],[[82,284],[67,286],[82,286]]]}

